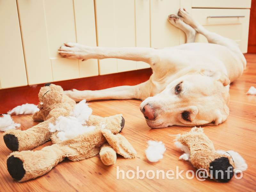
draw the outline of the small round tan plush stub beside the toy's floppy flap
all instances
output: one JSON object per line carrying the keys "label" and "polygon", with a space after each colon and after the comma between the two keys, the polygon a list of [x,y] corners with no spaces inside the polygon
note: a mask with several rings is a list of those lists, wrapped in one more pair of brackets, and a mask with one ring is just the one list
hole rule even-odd
{"label": "small round tan plush stub beside the toy's floppy flap", "polygon": [[116,151],[108,143],[104,143],[100,148],[100,159],[105,165],[116,163]]}

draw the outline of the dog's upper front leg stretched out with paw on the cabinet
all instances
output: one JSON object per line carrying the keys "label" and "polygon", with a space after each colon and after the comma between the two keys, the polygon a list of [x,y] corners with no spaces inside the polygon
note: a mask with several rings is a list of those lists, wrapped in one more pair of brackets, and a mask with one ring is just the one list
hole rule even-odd
{"label": "dog's upper front leg stretched out with paw on the cabinet", "polygon": [[106,59],[117,58],[124,60],[144,61],[154,70],[159,61],[157,49],[144,47],[110,48],[90,47],[78,43],[66,43],[58,50],[62,57],[71,59]]}

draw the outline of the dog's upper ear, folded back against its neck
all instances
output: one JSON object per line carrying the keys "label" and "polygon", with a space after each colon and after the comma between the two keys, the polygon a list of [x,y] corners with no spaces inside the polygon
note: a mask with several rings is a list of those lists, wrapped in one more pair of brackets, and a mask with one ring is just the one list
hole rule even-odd
{"label": "dog's upper ear, folded back against its neck", "polygon": [[200,74],[203,76],[213,77],[217,81],[220,81],[223,84],[223,86],[227,86],[230,84],[230,80],[228,79],[228,76],[221,71],[212,71],[210,69],[202,69],[200,71]]}

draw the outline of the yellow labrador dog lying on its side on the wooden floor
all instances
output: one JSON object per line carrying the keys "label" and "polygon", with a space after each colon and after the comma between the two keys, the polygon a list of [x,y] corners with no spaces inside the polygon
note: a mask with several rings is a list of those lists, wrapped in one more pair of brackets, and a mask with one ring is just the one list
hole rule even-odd
{"label": "yellow labrador dog lying on its side on the wooden floor", "polygon": [[[186,44],[164,49],[104,48],[66,43],[60,55],[71,59],[105,59],[147,62],[153,74],[135,86],[119,86],[99,91],[66,91],[76,101],[99,99],[141,99],[140,110],[148,126],[194,126],[220,124],[229,114],[229,83],[237,79],[246,60],[237,44],[206,30],[180,9],[168,20],[187,36]],[[194,43],[196,33],[209,43]]]}

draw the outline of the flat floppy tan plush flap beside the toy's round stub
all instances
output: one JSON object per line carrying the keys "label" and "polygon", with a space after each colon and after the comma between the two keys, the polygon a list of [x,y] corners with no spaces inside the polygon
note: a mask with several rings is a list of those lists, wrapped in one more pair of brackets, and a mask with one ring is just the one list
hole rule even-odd
{"label": "flat floppy tan plush flap beside the toy's round stub", "polygon": [[101,133],[104,135],[109,145],[124,158],[134,158],[136,156],[136,151],[129,143],[129,141],[120,134],[114,135],[107,129],[102,129]]}

